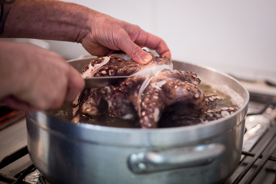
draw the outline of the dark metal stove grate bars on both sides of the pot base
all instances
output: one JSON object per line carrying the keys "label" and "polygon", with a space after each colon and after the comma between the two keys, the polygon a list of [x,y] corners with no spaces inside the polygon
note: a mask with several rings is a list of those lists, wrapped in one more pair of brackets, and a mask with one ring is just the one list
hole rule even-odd
{"label": "dark metal stove grate bars on both sides of the pot base", "polygon": [[[262,114],[269,105],[270,104],[266,105],[263,111],[261,111],[258,114]],[[275,107],[274,103],[272,105]],[[257,115],[257,114],[247,114],[247,116],[248,115]],[[259,148],[258,152],[256,153],[246,152],[246,151],[242,152],[242,154],[245,157],[241,160],[240,165],[237,167],[236,171],[228,178],[226,182],[224,182],[224,184],[252,183],[255,177],[258,175],[258,173],[261,171],[261,169],[264,167],[264,165],[268,160],[271,160],[274,163],[276,163],[276,157],[272,156],[272,154],[276,150],[276,126],[271,127],[271,129],[269,130],[269,133],[266,133],[266,136],[261,137],[257,141],[256,145],[258,144],[258,142],[260,142],[261,139],[265,139],[265,142],[261,143],[262,146]],[[265,150],[266,150],[266,153],[265,153],[265,156],[263,157]],[[27,146],[24,146],[18,149],[17,151],[10,153],[0,161],[0,170],[27,154],[28,154]],[[247,157],[253,157],[253,158],[248,163],[245,164],[245,159]],[[262,160],[256,165],[255,163],[259,159],[262,159]],[[245,165],[244,168],[242,170],[241,169],[239,170],[239,168],[242,167],[242,165]],[[35,166],[33,164],[30,164],[23,170],[18,171],[17,174],[13,175],[13,177],[0,173],[0,181],[4,183],[12,183],[12,184],[16,184],[16,183],[30,184],[28,182],[23,181],[23,179],[25,178],[26,175],[33,172],[35,169],[36,169]],[[249,170],[251,170],[252,174],[248,173]],[[276,170],[274,170],[274,172],[275,171]],[[246,175],[247,175],[246,178],[248,179],[246,181],[242,181]],[[275,173],[274,179],[271,181],[271,184],[276,184],[276,173]]]}

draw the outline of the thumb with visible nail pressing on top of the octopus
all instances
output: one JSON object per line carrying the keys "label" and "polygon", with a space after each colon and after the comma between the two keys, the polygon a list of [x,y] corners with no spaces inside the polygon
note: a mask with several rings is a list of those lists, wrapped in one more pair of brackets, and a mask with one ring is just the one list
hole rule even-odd
{"label": "thumb with visible nail pressing on top of the octopus", "polygon": [[139,64],[148,64],[152,60],[151,54],[147,51],[144,51],[141,47],[128,39],[124,39],[125,42],[121,45],[121,50],[124,51],[130,58],[133,59],[136,63]]}

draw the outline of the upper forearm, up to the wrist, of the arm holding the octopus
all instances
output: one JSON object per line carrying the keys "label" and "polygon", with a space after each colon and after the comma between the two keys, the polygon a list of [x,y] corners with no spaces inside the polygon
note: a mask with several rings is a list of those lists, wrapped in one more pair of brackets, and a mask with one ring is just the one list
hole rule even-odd
{"label": "upper forearm, up to the wrist, of the arm holding the octopus", "polygon": [[79,43],[91,30],[87,22],[96,13],[85,6],[55,0],[15,0],[2,5],[2,38],[24,37]]}

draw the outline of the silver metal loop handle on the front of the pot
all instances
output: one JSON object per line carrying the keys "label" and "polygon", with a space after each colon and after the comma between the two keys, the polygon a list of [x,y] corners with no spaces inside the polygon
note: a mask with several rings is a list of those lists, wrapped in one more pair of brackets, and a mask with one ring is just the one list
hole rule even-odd
{"label": "silver metal loop handle on the front of the pot", "polygon": [[213,162],[224,150],[224,145],[213,143],[164,151],[133,153],[128,157],[128,167],[132,172],[139,174],[201,166]]}

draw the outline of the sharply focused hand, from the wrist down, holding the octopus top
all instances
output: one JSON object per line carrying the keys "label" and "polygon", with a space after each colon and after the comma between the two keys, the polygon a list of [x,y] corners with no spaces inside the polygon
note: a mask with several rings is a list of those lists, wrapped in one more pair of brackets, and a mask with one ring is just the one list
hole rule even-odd
{"label": "sharply focused hand, from the wrist down, holding the octopus top", "polygon": [[81,40],[82,46],[90,54],[106,56],[122,50],[135,62],[147,64],[152,57],[141,47],[148,47],[161,56],[171,58],[171,52],[161,38],[145,32],[137,25],[91,11],[92,18],[88,21],[91,28],[86,28],[86,36]]}

